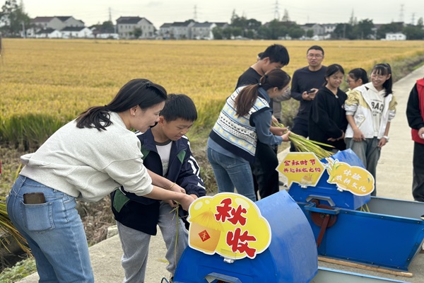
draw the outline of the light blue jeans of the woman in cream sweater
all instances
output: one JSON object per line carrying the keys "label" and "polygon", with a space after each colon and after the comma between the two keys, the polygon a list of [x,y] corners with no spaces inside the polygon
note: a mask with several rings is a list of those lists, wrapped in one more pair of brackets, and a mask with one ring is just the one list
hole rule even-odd
{"label": "light blue jeans of the woman in cream sweater", "polygon": [[[42,192],[43,204],[24,204],[23,194]],[[94,282],[83,223],[75,197],[19,175],[7,197],[13,225],[28,241],[40,283]]]}

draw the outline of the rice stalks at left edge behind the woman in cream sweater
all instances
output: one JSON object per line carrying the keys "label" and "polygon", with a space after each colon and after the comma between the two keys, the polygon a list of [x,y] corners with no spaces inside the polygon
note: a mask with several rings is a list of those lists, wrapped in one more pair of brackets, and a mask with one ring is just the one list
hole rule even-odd
{"label": "rice stalks at left edge behind the woman in cream sweater", "polygon": [[[18,243],[20,248],[22,248],[25,253],[28,253],[28,255],[30,255],[30,249],[28,248],[27,241],[25,240],[25,238],[23,238],[22,235],[20,235],[18,230],[16,230],[16,228],[11,222],[11,219],[9,219],[8,217],[6,202],[4,202],[5,200],[6,197],[0,197],[0,232],[3,231],[4,233],[6,233],[6,235],[11,235],[15,239],[16,243]],[[10,242],[6,237],[0,239],[0,243],[6,248],[6,250],[8,250],[7,245]]]}

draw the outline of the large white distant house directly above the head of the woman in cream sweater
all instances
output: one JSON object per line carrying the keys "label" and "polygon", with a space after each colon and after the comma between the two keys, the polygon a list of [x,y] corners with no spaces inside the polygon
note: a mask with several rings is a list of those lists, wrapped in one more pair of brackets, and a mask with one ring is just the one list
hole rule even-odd
{"label": "large white distant house directly above the head of the woman in cream sweater", "polygon": [[129,39],[134,37],[134,30],[139,28],[141,36],[139,38],[153,38],[155,36],[155,26],[147,18],[140,17],[119,17],[117,19],[117,33],[119,38]]}

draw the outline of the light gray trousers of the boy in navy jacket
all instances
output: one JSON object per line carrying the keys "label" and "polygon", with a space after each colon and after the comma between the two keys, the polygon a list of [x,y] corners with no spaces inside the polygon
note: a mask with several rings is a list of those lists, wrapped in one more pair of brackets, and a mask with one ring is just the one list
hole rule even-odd
{"label": "light gray trousers of the boy in navy jacket", "polygon": [[[166,269],[174,276],[175,268],[182,252],[188,245],[188,231],[181,219],[175,216],[167,202],[160,202],[158,226],[162,232],[163,241],[167,248],[165,258],[169,262]],[[143,219],[140,219],[143,221]],[[123,283],[143,283],[146,276],[148,247],[151,235],[131,229],[117,221],[119,239],[121,240],[121,264],[124,267],[125,278]]]}

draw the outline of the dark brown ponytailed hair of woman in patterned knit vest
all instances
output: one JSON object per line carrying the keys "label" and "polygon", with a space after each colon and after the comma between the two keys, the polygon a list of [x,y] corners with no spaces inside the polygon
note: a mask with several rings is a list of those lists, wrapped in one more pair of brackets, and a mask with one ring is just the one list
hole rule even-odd
{"label": "dark brown ponytailed hair of woman in patterned knit vest", "polygon": [[246,86],[240,91],[237,98],[235,98],[235,112],[237,112],[239,116],[247,115],[259,96],[259,87],[264,88],[265,91],[268,91],[270,88],[278,88],[281,90],[285,88],[285,86],[288,86],[290,79],[290,76],[282,69],[267,71],[266,74],[261,77],[259,83]]}

